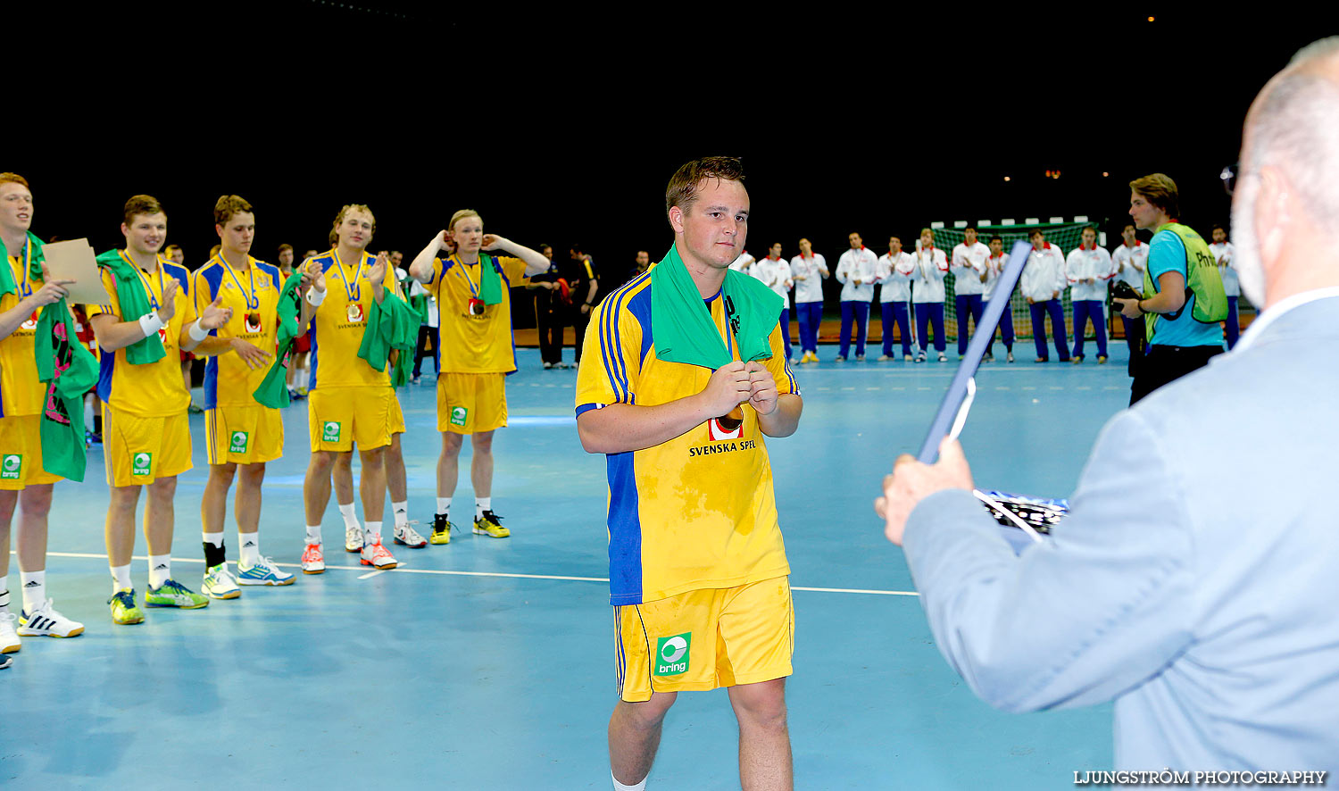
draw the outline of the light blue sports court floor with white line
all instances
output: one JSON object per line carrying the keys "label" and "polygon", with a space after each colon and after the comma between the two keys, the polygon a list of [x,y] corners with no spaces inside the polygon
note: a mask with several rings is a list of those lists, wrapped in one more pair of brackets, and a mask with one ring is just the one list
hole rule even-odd
{"label": "light blue sports court floor with white line", "polygon": [[[977,375],[963,432],[976,482],[1067,495],[1102,423],[1129,399],[1123,343],[1101,367],[1091,351],[1083,365],[1032,364],[1030,341],[1016,351],[1016,364],[1000,355]],[[795,586],[797,787],[1031,791],[1110,768],[1110,707],[1015,716],[971,695],[936,650],[901,550],[872,511],[894,455],[919,447],[953,348],[947,364],[834,364],[834,347],[819,353],[822,364],[797,371],[799,431],[767,443]],[[449,546],[392,547],[403,565],[375,573],[339,551],[332,503],[324,576],[248,588],[202,610],[146,609],[138,626],[114,626],[104,604],[107,489],[95,448],[88,482],[56,487],[47,581],[87,630],[25,638],[0,671],[0,786],[609,788],[604,458],[577,442],[576,373],[542,371],[533,349],[518,363],[493,491],[511,538],[458,533]],[[411,517],[430,522],[441,446],[431,375],[400,399]],[[291,452],[269,466],[261,518],[262,554],[295,570],[304,404],[285,416]],[[198,589],[206,468],[202,420],[191,424],[195,468],[177,491],[173,569]],[[467,523],[461,467],[453,510]],[[236,545],[230,525],[232,561]],[[142,535],[135,550],[142,601]],[[12,558],[16,609],[17,576]],[[723,691],[683,695],[649,787],[736,788],[735,745]]]}

